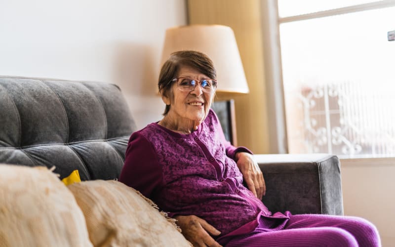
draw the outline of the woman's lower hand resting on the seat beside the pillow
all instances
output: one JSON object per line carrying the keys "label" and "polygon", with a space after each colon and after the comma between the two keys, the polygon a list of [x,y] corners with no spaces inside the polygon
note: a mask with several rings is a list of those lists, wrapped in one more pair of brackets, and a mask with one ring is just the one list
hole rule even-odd
{"label": "woman's lower hand resting on the seat beside the pillow", "polygon": [[176,224],[181,228],[181,233],[194,246],[222,247],[210,236],[218,236],[220,231],[208,224],[204,219],[195,215],[177,215],[174,217]]}

